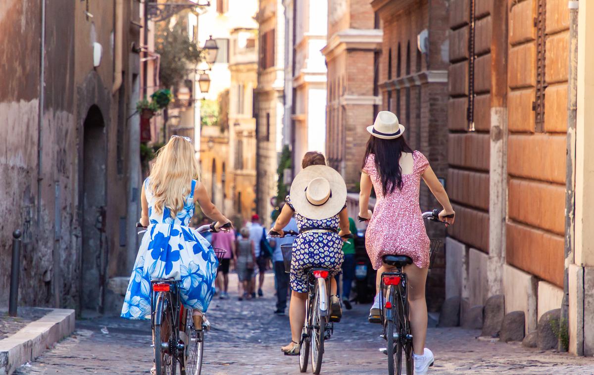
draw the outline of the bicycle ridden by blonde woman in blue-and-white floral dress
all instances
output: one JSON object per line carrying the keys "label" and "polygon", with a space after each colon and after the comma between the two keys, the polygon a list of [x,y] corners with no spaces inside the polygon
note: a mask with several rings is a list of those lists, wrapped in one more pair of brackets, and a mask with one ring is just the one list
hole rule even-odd
{"label": "bicycle ridden by blonde woman in blue-and-white floral dress", "polygon": [[[211,223],[197,228],[198,233],[216,232]],[[137,223],[138,228],[143,227]],[[221,228],[230,228],[225,224]],[[213,248],[217,258],[226,250]],[[204,319],[201,329],[195,329],[192,310],[186,309],[180,298],[181,280],[152,279],[151,328],[153,329],[155,368],[158,375],[175,375],[179,363],[181,375],[200,375],[202,371],[204,333],[210,330],[210,323]]]}

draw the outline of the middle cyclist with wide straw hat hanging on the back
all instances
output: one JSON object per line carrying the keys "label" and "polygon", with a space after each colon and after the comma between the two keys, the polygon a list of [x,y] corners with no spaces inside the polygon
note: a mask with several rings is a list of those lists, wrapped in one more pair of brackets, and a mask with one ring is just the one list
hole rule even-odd
{"label": "middle cyclist with wide straw hat hanging on the back", "polygon": [[339,322],[342,316],[336,295],[336,280],[344,255],[343,241],[350,234],[346,210],[346,185],[340,174],[326,165],[324,155],[310,151],[302,162],[303,170],[295,176],[287,204],[274,223],[272,232],[282,237],[290,218],[295,215],[299,236],[293,243],[289,320],[291,342],[281,350],[287,355],[299,355],[299,339],[305,322],[307,301],[307,270],[312,267],[330,270],[330,319]]}

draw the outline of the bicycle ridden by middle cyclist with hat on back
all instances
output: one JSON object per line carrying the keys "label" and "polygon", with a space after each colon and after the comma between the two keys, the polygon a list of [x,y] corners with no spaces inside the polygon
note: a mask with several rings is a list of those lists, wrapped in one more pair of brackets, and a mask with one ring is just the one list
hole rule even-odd
{"label": "bicycle ridden by middle cyclist with hat on back", "polygon": [[[270,235],[279,234],[271,231]],[[285,236],[297,236],[295,231],[287,231]],[[352,234],[349,235],[352,237]],[[345,237],[349,237],[345,236]],[[285,261],[285,272],[290,272],[292,258],[292,244],[280,245],[283,260]],[[305,323],[301,332],[301,351],[299,351],[299,370],[302,373],[307,371],[308,357],[311,350],[311,365],[314,374],[320,374],[322,358],[324,355],[324,340],[330,338],[334,332],[334,322],[330,316],[330,269],[309,268],[307,272],[307,303],[305,304]],[[313,345],[312,344],[313,339]]]}

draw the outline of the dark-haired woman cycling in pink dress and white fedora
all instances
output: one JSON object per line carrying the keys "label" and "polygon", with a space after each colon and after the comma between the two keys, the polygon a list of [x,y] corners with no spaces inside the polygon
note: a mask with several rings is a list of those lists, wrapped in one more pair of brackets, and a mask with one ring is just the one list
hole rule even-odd
{"label": "dark-haired woman cycling in pink dress and white fedora", "polygon": [[[382,272],[389,270],[383,265],[383,256],[409,256],[413,264],[405,266],[403,271],[408,280],[415,374],[424,374],[433,363],[434,356],[425,348],[425,281],[429,266],[429,238],[419,208],[421,178],[443,206],[440,220],[454,224],[453,217],[445,217],[453,215],[454,210],[425,155],[413,151],[406,144],[402,135],[405,127],[399,124],[394,113],[381,111],[367,131],[371,136],[362,167],[359,216],[369,220],[365,246],[373,268],[378,270],[377,293],[369,316],[370,319],[378,319],[380,315],[380,278]],[[377,195],[373,214],[368,209],[372,187]]]}

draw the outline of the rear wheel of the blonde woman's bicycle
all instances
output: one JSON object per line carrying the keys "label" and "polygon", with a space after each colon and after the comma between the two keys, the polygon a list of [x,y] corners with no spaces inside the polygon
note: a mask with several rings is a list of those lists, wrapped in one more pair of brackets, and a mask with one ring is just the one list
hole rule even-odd
{"label": "rear wheel of the blonde woman's bicycle", "polygon": [[[173,352],[175,332],[172,304],[168,293],[157,295],[156,312],[160,314],[160,324],[154,325],[154,364],[157,375],[175,375],[176,357]],[[176,348],[175,348],[176,350]]]}

